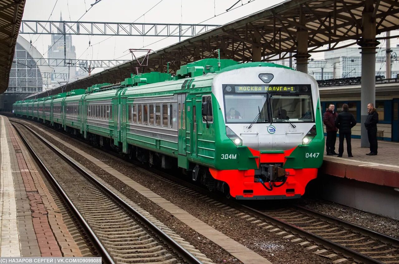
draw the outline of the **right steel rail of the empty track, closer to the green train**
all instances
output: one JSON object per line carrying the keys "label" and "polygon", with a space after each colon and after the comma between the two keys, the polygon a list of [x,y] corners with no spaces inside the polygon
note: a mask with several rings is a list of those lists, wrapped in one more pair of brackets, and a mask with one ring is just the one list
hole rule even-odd
{"label": "right steel rail of the empty track, closer to the green train", "polygon": [[[16,122],[16,121],[11,121],[10,122]],[[163,242],[165,242],[174,252],[179,254],[180,257],[182,257],[186,262],[189,264],[203,264],[198,258],[196,258],[194,255],[192,255],[188,250],[186,250],[184,247],[182,247],[178,242],[176,242],[173,238],[171,238],[168,234],[166,234],[162,229],[154,225],[150,220],[148,220],[144,215],[142,215],[140,212],[138,212],[136,209],[131,207],[128,203],[126,203],[124,200],[122,200],[118,195],[113,193],[110,189],[105,187],[102,183],[97,181],[92,175],[87,173],[83,168],[79,167],[77,164],[75,164],[68,156],[65,156],[57,148],[52,146],[50,142],[48,142],[45,138],[40,136],[36,131],[32,130],[32,128],[26,126],[25,124],[16,122],[18,124],[21,124],[25,128],[27,128],[32,134],[37,136],[46,146],[51,148],[53,151],[55,151],[59,156],[61,156],[63,159],[65,159],[69,164],[73,165],[76,169],[81,171],[85,176],[87,176],[95,185],[100,187],[102,191],[104,191],[107,195],[112,197],[120,206],[122,206],[128,213],[132,214],[136,219],[138,219],[148,230],[150,230],[153,234],[158,236]],[[15,127],[15,126],[14,126]],[[41,163],[41,162],[40,162]],[[42,164],[42,163],[41,163]],[[55,180],[55,179],[54,179]]]}

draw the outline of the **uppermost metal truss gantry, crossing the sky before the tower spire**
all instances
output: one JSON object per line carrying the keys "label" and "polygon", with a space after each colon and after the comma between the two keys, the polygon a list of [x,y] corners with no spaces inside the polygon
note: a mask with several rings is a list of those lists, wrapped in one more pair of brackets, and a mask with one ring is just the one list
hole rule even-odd
{"label": "uppermost metal truss gantry, crossing the sky before the tower spire", "polygon": [[193,37],[219,25],[22,20],[20,34]]}

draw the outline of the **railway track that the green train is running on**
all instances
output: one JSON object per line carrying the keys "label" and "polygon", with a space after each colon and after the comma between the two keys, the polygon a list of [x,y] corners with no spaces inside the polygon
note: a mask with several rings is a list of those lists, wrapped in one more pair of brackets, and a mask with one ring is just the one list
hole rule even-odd
{"label": "railway track that the green train is running on", "polygon": [[315,244],[315,248],[318,247],[317,254],[329,256],[334,251],[339,256],[343,255],[349,261],[353,260],[359,263],[399,263],[399,239],[397,238],[304,207],[290,206],[277,210],[248,207],[233,200],[223,199],[214,193],[210,193],[197,185],[188,183],[164,171],[150,167],[143,168],[137,162],[132,164],[102,150],[98,150],[98,152],[108,158],[117,159],[118,162],[129,165],[134,169],[150,173],[151,176],[157,177],[160,181],[163,179],[163,181],[184,185],[187,187],[187,192],[192,193],[192,190],[195,190],[198,193],[207,195],[207,197],[225,203],[238,211],[246,212],[257,219],[271,223],[275,227],[279,227],[282,231],[291,232],[297,237],[304,238],[308,242]]}

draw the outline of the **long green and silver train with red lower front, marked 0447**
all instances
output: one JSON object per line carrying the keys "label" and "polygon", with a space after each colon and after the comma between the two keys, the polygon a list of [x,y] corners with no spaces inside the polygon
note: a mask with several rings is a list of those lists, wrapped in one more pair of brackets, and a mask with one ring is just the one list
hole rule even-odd
{"label": "long green and silver train with red lower front, marked 0447", "polygon": [[[179,167],[229,197],[298,198],[322,164],[318,85],[288,67],[204,59],[173,77],[143,73],[97,86],[78,106],[84,138],[150,165]],[[77,100],[57,97],[52,124],[76,133],[65,117]]]}

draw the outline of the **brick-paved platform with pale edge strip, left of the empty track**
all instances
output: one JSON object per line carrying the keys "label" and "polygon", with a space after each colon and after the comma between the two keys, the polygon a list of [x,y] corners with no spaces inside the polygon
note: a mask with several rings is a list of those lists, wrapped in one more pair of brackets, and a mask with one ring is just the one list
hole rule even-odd
{"label": "brick-paved platform with pale edge strip, left of the empty track", "polygon": [[0,256],[82,256],[33,158],[0,116]]}

